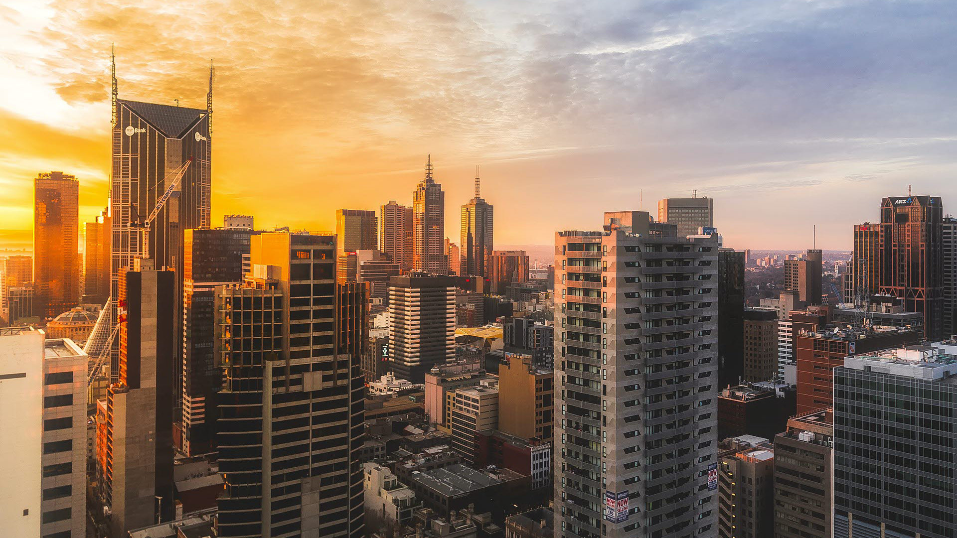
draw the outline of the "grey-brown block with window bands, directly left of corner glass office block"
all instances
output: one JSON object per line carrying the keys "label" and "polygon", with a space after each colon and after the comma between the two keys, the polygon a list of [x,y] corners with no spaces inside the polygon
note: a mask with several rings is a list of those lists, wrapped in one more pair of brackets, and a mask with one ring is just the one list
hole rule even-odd
{"label": "grey-brown block with window bands, directly left of corner glass office block", "polygon": [[788,420],[774,437],[774,537],[833,536],[834,411]]}

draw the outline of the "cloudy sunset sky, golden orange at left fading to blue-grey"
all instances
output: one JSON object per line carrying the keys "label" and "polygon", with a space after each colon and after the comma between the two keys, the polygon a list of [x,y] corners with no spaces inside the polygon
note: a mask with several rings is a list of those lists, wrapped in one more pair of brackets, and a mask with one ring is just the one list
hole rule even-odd
{"label": "cloudy sunset sky, golden orange at left fading to blue-grey", "polygon": [[725,246],[843,250],[882,196],[955,191],[957,2],[5,0],[0,249],[29,247],[33,178],[106,203],[109,52],[120,97],[205,107],[213,222],[332,230],[410,205],[432,155],[497,244],[605,211],[715,199]]}

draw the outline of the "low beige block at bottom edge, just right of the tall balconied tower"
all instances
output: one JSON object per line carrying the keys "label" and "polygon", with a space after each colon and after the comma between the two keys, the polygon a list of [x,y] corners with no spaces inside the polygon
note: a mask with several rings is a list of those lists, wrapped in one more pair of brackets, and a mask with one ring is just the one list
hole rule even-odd
{"label": "low beige block at bottom edge, just right of the tall balconied tower", "polygon": [[723,456],[718,467],[719,538],[769,538],[774,520],[774,448]]}

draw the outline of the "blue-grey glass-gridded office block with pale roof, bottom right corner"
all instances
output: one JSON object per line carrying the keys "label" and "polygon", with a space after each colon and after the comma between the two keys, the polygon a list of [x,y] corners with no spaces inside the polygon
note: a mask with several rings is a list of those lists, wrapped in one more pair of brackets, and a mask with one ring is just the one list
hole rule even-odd
{"label": "blue-grey glass-gridded office block with pale roof, bottom right corner", "polygon": [[955,536],[955,375],[954,341],[835,368],[835,538]]}

